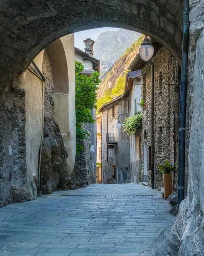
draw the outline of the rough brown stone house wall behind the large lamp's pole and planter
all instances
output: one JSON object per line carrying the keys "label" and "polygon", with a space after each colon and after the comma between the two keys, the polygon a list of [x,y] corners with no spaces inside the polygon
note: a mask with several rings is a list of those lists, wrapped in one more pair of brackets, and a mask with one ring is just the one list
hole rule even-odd
{"label": "rough brown stone house wall behind the large lamp's pole and planter", "polygon": [[[163,187],[163,175],[158,171],[158,165],[170,160],[178,166],[178,111],[180,69],[170,52],[161,47],[152,58],[154,63],[154,173],[155,188]],[[144,86],[146,84],[146,86]],[[148,185],[151,186],[151,171],[149,170],[149,150],[151,147],[151,65],[142,69],[142,95],[146,95],[146,107],[142,108],[143,140],[147,133],[147,168]],[[144,88],[146,92],[144,92]],[[146,135],[145,135],[146,137]],[[174,141],[175,139],[175,141]],[[174,145],[175,148],[174,148]],[[174,157],[174,152],[176,157]],[[175,160],[174,160],[175,158]],[[144,173],[144,157],[142,157]],[[176,172],[177,173],[177,172]],[[143,177],[141,177],[141,180]],[[177,175],[175,175],[175,180]]]}

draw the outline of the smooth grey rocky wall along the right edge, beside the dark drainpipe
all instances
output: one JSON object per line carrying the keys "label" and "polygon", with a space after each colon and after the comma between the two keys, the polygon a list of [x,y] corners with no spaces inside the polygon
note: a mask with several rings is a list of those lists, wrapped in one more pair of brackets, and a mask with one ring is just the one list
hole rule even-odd
{"label": "smooth grey rocky wall along the right edge, beside the dark drainpipe", "polygon": [[[170,252],[202,256],[204,252],[204,1],[190,0],[189,83],[187,97],[187,197],[170,233]],[[174,254],[173,254],[174,253]]]}

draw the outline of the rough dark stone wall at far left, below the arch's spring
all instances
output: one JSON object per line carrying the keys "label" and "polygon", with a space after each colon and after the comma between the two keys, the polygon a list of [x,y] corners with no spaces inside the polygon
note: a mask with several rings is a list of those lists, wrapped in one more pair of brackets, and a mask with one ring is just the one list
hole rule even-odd
{"label": "rough dark stone wall at far left, below the arch's spring", "polygon": [[0,81],[0,207],[30,200],[26,175],[25,90],[19,78]]}

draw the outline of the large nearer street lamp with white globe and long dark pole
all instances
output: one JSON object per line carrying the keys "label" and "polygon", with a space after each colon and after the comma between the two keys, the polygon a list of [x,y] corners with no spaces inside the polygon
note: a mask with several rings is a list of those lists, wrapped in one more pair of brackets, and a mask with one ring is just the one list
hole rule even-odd
{"label": "large nearer street lamp with white globe and long dark pole", "polygon": [[152,71],[152,100],[151,100],[151,178],[152,178],[152,189],[155,188],[155,176],[154,176],[154,64],[150,59],[154,54],[154,47],[149,42],[147,35],[144,38],[141,47],[139,48],[139,55],[145,62],[151,63]]}

